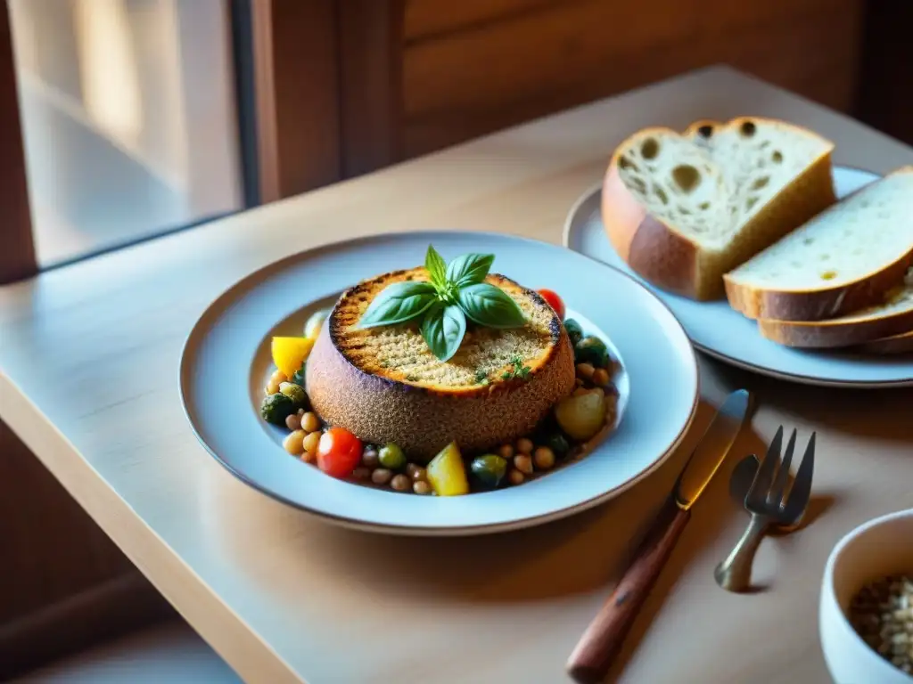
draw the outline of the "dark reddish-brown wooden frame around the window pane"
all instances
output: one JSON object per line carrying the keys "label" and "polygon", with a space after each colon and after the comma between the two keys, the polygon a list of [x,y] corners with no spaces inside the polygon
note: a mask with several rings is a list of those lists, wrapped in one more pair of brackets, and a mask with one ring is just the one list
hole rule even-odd
{"label": "dark reddish-brown wooden frame around the window pane", "polygon": [[[0,285],[193,228],[40,266],[28,199],[10,7],[0,17]],[[226,0],[242,210],[403,157],[404,0]]]}

